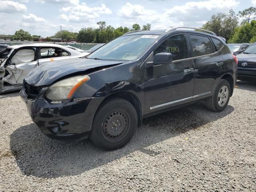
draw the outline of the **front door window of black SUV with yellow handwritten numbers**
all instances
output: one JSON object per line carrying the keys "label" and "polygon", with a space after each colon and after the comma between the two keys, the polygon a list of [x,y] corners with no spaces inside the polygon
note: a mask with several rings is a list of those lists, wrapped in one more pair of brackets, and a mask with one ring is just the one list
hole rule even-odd
{"label": "front door window of black SUV with yellow handwritten numbers", "polygon": [[188,58],[186,35],[180,34],[168,38],[154,51],[154,54],[162,52],[171,53],[173,61]]}

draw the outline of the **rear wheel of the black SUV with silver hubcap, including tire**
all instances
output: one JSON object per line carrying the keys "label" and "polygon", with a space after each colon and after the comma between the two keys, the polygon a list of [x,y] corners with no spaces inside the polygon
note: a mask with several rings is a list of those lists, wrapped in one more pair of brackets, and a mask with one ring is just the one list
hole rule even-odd
{"label": "rear wheel of the black SUV with silver hubcap, including tire", "polygon": [[231,88],[227,80],[221,79],[214,90],[214,94],[206,100],[206,106],[209,110],[215,112],[223,111],[228,105]]}

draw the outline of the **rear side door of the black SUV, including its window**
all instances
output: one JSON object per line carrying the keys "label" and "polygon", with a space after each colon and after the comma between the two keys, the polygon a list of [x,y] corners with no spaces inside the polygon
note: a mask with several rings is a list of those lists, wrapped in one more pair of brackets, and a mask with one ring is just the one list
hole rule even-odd
{"label": "rear side door of the black SUV, including its window", "polygon": [[210,95],[224,74],[224,60],[209,36],[189,34],[195,65],[194,98]]}

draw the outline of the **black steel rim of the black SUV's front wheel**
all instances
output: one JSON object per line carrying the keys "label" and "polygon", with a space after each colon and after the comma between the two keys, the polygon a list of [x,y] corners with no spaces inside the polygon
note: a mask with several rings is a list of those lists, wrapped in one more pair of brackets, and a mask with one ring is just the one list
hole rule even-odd
{"label": "black steel rim of the black SUV's front wheel", "polygon": [[109,142],[121,140],[128,132],[130,118],[121,109],[110,112],[102,123],[102,135]]}

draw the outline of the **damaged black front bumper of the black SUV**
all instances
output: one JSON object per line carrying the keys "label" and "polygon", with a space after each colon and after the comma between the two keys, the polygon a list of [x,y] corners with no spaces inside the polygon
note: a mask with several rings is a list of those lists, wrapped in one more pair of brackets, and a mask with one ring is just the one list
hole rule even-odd
{"label": "damaged black front bumper of the black SUV", "polygon": [[48,137],[57,140],[81,140],[88,138],[92,121],[103,98],[92,98],[61,104],[52,104],[44,98],[46,89],[36,99],[29,99],[25,88],[20,91],[32,121]]}

